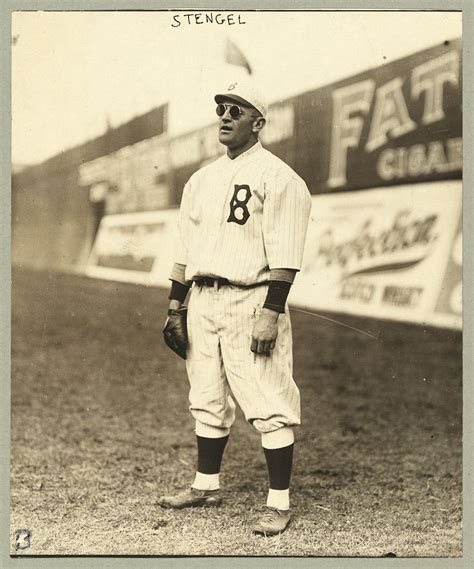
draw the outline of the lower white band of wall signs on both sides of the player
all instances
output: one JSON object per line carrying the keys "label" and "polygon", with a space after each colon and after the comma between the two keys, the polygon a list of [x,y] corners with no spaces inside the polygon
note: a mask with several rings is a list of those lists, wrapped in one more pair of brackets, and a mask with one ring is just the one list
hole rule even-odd
{"label": "lower white band of wall signs on both sides of the player", "polygon": [[[290,304],[461,328],[458,181],[313,196]],[[169,286],[178,210],[104,218],[93,277]]]}

